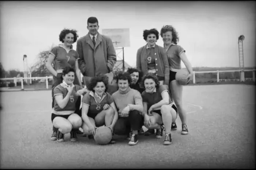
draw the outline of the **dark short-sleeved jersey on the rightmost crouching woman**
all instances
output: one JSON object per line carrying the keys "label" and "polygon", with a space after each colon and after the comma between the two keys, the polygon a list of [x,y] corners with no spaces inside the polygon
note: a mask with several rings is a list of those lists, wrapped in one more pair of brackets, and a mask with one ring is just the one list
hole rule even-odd
{"label": "dark short-sleeved jersey on the rightmost crouching woman", "polygon": [[[141,96],[142,96],[142,101],[144,103],[147,103],[148,106],[147,108],[149,109],[153,104],[158,103],[159,101],[161,101],[163,98],[161,96],[161,94],[163,92],[168,92],[168,87],[166,85],[160,85],[159,88],[155,89],[155,92],[153,93],[147,93],[146,91],[142,92]],[[169,92],[168,92],[169,93]],[[170,94],[169,94],[170,96]],[[172,101],[169,97],[169,103],[170,104]]]}

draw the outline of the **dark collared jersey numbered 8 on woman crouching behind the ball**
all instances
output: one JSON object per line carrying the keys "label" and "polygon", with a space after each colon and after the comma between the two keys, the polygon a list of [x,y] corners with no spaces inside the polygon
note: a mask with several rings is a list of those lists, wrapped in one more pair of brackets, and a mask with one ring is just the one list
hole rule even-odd
{"label": "dark collared jersey numbered 8 on woman crouching behind the ball", "polygon": [[94,92],[92,91],[90,91],[89,93],[86,93],[82,99],[82,103],[89,106],[88,113],[96,114],[96,115],[103,110],[103,106],[105,104],[110,105],[113,102],[114,102],[113,97],[108,92],[103,94],[102,99],[99,103],[95,99]]}

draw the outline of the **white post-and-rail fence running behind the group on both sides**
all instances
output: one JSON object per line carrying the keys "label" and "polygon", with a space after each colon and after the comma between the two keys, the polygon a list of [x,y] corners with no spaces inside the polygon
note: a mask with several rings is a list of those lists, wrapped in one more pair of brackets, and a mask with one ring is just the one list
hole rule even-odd
{"label": "white post-and-rail fence running behind the group on both sides", "polygon": [[[217,82],[220,82],[220,81],[239,81],[239,79],[219,79],[219,73],[228,73],[228,72],[240,72],[240,81],[241,82],[244,82],[245,80],[252,80],[252,81],[255,81],[255,71],[256,69],[252,69],[252,70],[217,70],[217,71],[206,71],[206,72],[193,72],[193,84],[196,84],[196,74],[198,73],[217,73]],[[252,72],[252,77],[251,78],[245,78],[244,76],[244,72]],[[13,78],[0,78],[0,80],[13,80],[14,81],[14,84],[15,86],[17,86],[17,81],[20,81],[21,82],[21,89],[23,90],[24,89],[24,84],[23,84],[23,80],[30,80],[30,83],[31,83],[31,80],[45,80],[45,83],[46,83],[46,89],[49,88],[48,86],[48,79],[49,78],[53,78],[53,76],[49,76],[49,77],[13,77]],[[83,80],[83,78],[81,78],[81,80]]]}

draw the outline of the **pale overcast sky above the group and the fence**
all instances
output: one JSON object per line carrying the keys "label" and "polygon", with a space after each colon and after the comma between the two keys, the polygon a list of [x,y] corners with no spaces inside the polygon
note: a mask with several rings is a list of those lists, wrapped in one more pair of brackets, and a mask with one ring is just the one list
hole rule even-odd
{"label": "pale overcast sky above the group and the fence", "polygon": [[[87,19],[106,28],[129,28],[125,61],[136,65],[145,45],[143,30],[173,25],[193,67],[239,66],[238,36],[244,35],[244,65],[255,66],[255,2],[253,1],[1,1],[1,63],[5,70],[23,70],[23,54],[31,66],[37,54],[59,44],[63,28],[88,33]],[[163,45],[160,37],[158,45]],[[76,43],[74,44],[76,49]],[[118,58],[119,59],[119,58]]]}

